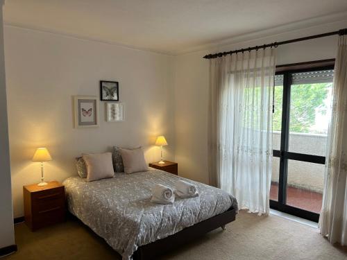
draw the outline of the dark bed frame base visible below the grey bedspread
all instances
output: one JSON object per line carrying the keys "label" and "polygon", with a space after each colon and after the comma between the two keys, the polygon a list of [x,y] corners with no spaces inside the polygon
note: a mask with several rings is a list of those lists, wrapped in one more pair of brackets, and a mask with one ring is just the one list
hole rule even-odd
{"label": "dark bed frame base visible below the grey bedspread", "polygon": [[178,248],[180,245],[184,245],[189,241],[194,241],[198,236],[202,236],[213,229],[221,227],[225,229],[226,224],[235,220],[236,210],[234,208],[228,209],[226,212],[203,220],[191,227],[186,227],[185,229],[167,236],[164,239],[160,239],[149,243],[147,245],[142,245],[133,254],[134,260],[149,260],[155,259],[160,254]]}

